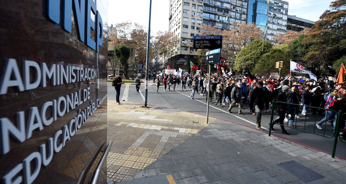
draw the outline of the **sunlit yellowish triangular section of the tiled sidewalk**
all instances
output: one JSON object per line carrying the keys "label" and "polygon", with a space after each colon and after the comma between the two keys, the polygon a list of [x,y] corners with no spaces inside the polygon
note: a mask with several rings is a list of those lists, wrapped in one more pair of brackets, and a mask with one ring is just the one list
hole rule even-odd
{"label": "sunlit yellowish triangular section of the tiled sidewalk", "polygon": [[107,177],[116,182],[128,180],[208,125],[201,115],[121,104],[108,100],[107,138],[113,145]]}

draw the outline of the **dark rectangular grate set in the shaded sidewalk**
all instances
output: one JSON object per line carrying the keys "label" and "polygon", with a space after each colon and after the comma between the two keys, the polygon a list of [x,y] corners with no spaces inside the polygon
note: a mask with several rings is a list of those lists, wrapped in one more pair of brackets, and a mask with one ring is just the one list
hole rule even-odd
{"label": "dark rectangular grate set in the shaded sidewalk", "polygon": [[315,171],[312,171],[308,167],[305,167],[295,161],[284,162],[276,165],[281,167],[283,170],[291,173],[293,176],[299,178],[303,182],[310,182],[313,180],[319,180],[324,178],[324,176],[316,173]]}

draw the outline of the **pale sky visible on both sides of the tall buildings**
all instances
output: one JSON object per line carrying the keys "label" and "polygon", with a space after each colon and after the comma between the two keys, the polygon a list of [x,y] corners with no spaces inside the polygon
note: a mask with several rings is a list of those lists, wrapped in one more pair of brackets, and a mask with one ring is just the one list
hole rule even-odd
{"label": "pale sky visible on both sides of the tall buildings", "polygon": [[[317,21],[329,8],[330,0],[286,0],[288,14]],[[108,25],[126,20],[137,22],[148,28],[149,0],[109,0]],[[151,32],[168,31],[169,0],[152,0]]]}

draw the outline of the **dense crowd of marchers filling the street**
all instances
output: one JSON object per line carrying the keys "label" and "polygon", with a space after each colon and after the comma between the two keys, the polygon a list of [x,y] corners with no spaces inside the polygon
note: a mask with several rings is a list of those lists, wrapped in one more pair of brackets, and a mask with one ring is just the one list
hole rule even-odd
{"label": "dense crowd of marchers filling the street", "polygon": [[[153,82],[156,84],[156,93],[159,87],[163,86],[163,91],[177,90],[180,86],[183,91],[191,90],[190,98],[194,99],[195,94],[206,96],[206,102],[215,105],[229,105],[228,112],[238,106],[238,114],[242,113],[243,104],[249,103],[249,111],[256,116],[256,128],[261,128],[262,113],[275,110],[279,115],[274,122],[280,124],[283,134],[289,135],[283,126],[295,128],[294,118],[312,115],[322,118],[315,126],[322,130],[321,125],[330,122],[334,130],[336,127],[337,113],[346,113],[346,81],[344,83],[335,83],[328,80],[327,77],[318,78],[318,80],[304,79],[286,76],[272,78],[272,76],[255,76],[255,79],[249,79],[245,76],[211,76],[208,81],[208,75],[183,74],[177,75],[153,75]],[[214,101],[215,100],[215,101]],[[273,107],[272,101],[275,101]],[[303,107],[299,109],[299,106]],[[309,106],[312,108],[310,109]],[[313,108],[317,107],[317,108]],[[308,113],[309,110],[309,113]],[[311,112],[310,112],[311,110]],[[345,139],[345,118],[342,117],[340,125],[340,138]],[[271,129],[274,130],[272,124]]]}

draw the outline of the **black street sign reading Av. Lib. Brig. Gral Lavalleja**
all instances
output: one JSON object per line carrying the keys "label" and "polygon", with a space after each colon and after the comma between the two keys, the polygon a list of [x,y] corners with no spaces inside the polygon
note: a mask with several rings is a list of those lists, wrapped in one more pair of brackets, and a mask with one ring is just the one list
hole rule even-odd
{"label": "black street sign reading Av. Lib. Brig. Gral Lavalleja", "polygon": [[222,36],[193,36],[193,49],[218,49],[222,47]]}

